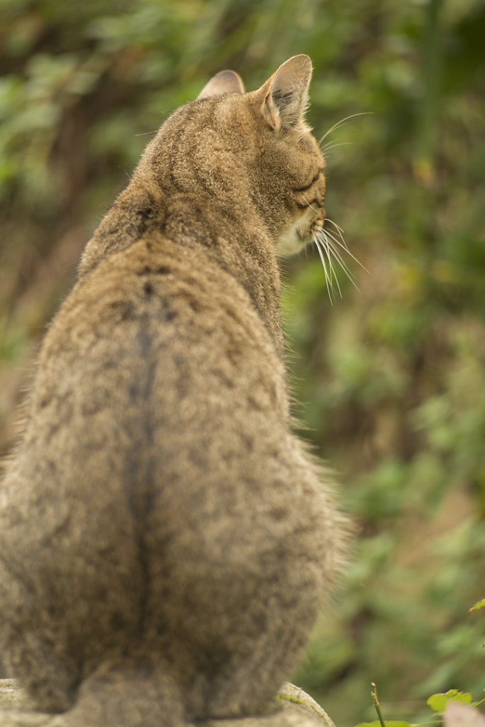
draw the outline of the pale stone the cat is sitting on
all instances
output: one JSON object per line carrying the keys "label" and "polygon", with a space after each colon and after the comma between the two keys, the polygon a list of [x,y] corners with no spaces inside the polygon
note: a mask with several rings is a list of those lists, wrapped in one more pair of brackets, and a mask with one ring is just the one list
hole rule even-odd
{"label": "pale stone the cat is sitting on", "polygon": [[[277,711],[269,715],[209,720],[203,727],[335,727],[311,696],[288,682],[277,695],[277,705]],[[0,727],[62,727],[63,723],[62,715],[54,717],[29,710],[28,699],[15,680],[0,679]]]}

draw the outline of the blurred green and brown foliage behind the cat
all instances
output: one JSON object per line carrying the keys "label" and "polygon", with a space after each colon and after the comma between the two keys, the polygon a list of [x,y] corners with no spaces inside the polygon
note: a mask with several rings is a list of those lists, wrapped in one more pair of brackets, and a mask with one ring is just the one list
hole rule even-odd
{"label": "blurred green and brown foliage behind the cat", "polygon": [[[285,263],[304,435],[359,535],[293,680],[338,727],[485,688],[484,0],[0,0],[0,449],[46,322],[150,134],[208,78],[314,63],[346,257]],[[329,230],[335,230],[331,225]],[[344,253],[343,253],[344,254]]]}

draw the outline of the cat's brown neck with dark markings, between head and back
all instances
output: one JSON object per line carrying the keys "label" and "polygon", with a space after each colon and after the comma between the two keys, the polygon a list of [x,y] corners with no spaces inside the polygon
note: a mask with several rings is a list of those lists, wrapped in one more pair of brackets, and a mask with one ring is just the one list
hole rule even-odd
{"label": "cat's brown neck with dark markings, between head and back", "polygon": [[235,278],[249,294],[283,355],[280,319],[280,274],[274,244],[258,215],[240,204],[227,212],[217,201],[200,204],[190,193],[166,196],[158,185],[131,184],[99,223],[81,257],[82,278],[110,254],[128,249],[137,239],[163,233],[176,244],[197,247]]}

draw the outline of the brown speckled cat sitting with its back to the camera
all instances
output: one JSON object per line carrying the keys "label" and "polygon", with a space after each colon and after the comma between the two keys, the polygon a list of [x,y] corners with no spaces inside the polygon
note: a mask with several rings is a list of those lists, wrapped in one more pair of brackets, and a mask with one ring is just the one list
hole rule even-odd
{"label": "brown speckled cat sitting with its back to the camera", "polygon": [[86,245],[0,491],[0,645],[69,727],[269,709],[345,560],[292,431],[277,256],[322,229],[311,61],[221,71]]}

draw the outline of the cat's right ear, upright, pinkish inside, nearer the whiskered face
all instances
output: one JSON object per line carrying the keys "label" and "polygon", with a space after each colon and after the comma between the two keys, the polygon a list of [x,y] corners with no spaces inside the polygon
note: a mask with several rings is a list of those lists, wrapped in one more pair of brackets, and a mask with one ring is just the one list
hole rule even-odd
{"label": "cat's right ear, upright, pinkish inside, nearer the whiskered face", "polygon": [[303,122],[311,71],[311,60],[307,55],[294,55],[280,65],[261,88],[264,92],[261,110],[272,129],[289,128]]}

